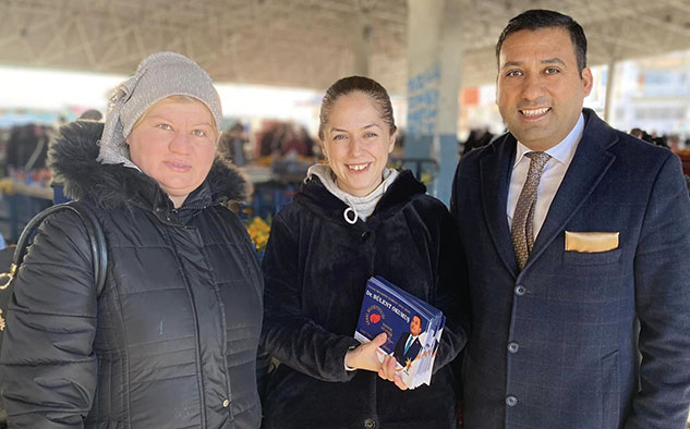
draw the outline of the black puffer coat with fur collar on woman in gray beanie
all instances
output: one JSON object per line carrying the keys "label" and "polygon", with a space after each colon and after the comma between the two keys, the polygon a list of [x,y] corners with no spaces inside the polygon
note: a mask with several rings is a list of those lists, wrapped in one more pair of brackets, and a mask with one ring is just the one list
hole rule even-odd
{"label": "black puffer coat with fur collar on woman in gray beanie", "polygon": [[179,209],[155,181],[96,162],[97,123],[62,130],[52,169],[97,207],[109,244],[97,297],[72,213],[40,228],[8,315],[1,363],[13,428],[258,428],[262,281],[221,203],[244,181],[216,160]]}

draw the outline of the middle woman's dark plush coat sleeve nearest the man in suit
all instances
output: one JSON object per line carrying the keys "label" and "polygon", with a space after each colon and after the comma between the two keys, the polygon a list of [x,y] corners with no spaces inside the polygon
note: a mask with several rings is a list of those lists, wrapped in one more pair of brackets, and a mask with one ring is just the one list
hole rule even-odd
{"label": "middle woman's dark plush coat sleeve nearest the man in suit", "polygon": [[434,373],[457,358],[468,342],[470,330],[470,298],[465,263],[461,257],[458,230],[452,217],[445,208],[437,240],[439,248],[434,305],[446,315],[446,327],[434,360]]}

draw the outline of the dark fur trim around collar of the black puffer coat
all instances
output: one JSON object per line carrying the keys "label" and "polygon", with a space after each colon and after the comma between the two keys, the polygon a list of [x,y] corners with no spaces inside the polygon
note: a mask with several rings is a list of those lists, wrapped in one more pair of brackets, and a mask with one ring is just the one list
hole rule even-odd
{"label": "dark fur trim around collar of the black puffer coat", "polygon": [[[48,166],[53,181],[64,186],[64,194],[72,199],[94,201],[104,208],[167,204],[167,195],[152,177],[122,164],[96,161],[102,130],[102,123],[75,121],[62,126],[58,137],[51,142]],[[246,197],[247,184],[242,174],[229,160],[219,157],[198,189],[205,186],[214,204]]]}

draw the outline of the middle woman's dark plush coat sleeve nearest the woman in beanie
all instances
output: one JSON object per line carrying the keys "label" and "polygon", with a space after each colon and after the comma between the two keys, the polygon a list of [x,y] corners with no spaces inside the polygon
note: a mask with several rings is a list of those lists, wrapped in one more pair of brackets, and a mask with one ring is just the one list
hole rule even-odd
{"label": "middle woman's dark plush coat sleeve nearest the woman in beanie", "polygon": [[264,270],[264,327],[262,343],[282,364],[324,381],[349,381],[344,355],[360,343],[351,336],[326,331],[301,308],[296,233],[282,212],[273,222]]}

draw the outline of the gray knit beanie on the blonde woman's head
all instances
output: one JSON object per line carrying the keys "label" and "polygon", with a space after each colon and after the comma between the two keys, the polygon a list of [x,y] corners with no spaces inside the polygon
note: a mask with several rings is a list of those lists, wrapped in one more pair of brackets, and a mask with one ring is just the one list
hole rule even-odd
{"label": "gray knit beanie on the blonde woman's head", "polygon": [[125,138],[148,108],[170,96],[189,96],[206,105],[219,131],[222,109],[210,76],[180,53],[154,53],[138,64],[134,76],[120,84],[110,98],[98,161],[138,170],[130,160]]}

